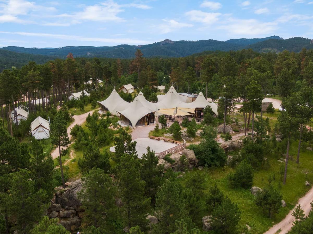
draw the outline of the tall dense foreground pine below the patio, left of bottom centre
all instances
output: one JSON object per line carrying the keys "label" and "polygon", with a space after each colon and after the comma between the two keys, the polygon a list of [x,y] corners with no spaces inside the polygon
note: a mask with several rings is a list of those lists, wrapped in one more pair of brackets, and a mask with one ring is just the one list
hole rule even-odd
{"label": "tall dense foreground pine below the patio, left of bottom centre", "polygon": [[149,210],[151,198],[144,195],[146,183],[140,177],[140,161],[137,155],[124,154],[117,167],[118,194],[124,203],[121,208],[124,225],[128,229],[137,225],[145,228],[145,215]]}

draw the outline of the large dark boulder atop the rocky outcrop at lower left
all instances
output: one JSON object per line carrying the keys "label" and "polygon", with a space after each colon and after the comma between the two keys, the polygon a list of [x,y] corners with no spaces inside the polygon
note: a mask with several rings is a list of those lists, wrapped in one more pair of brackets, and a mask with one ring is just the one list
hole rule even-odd
{"label": "large dark boulder atop the rocky outcrop at lower left", "polygon": [[83,183],[81,179],[78,179],[72,182],[70,187],[56,192],[56,203],[60,204],[63,208],[73,207],[74,210],[80,211],[81,201],[78,199],[77,193],[81,191]]}

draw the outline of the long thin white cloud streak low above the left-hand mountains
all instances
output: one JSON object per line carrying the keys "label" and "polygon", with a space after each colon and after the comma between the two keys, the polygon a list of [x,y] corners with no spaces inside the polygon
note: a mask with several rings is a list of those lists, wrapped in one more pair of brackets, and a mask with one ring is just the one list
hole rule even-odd
{"label": "long thin white cloud streak low above the left-hand mountains", "polygon": [[74,35],[64,35],[64,34],[50,34],[50,33],[38,33],[38,32],[5,32],[0,31],[0,33],[4,34],[13,34],[13,35],[21,35],[21,36],[29,36],[29,37],[49,37],[49,38],[57,38],[62,40],[69,41],[82,41],[82,42],[106,42],[113,44],[148,44],[151,41],[146,40],[138,40],[132,38],[103,38],[103,37],[82,37],[82,36],[74,36]]}

